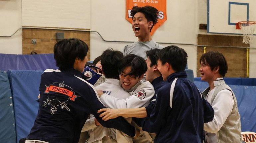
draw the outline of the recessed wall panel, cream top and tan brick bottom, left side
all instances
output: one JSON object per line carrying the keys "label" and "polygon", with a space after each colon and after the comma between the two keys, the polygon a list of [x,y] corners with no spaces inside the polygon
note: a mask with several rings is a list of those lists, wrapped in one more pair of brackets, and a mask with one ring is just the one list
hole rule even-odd
{"label": "recessed wall panel, cream top and tan brick bottom, left side", "polygon": [[[27,27],[22,30],[22,54],[30,54],[32,51],[38,54],[53,53],[56,32],[64,32],[64,38],[81,39],[90,47],[89,32],[73,31],[90,29],[90,7],[90,0],[22,0],[22,26]],[[36,39],[37,44],[33,45],[31,39]]]}

